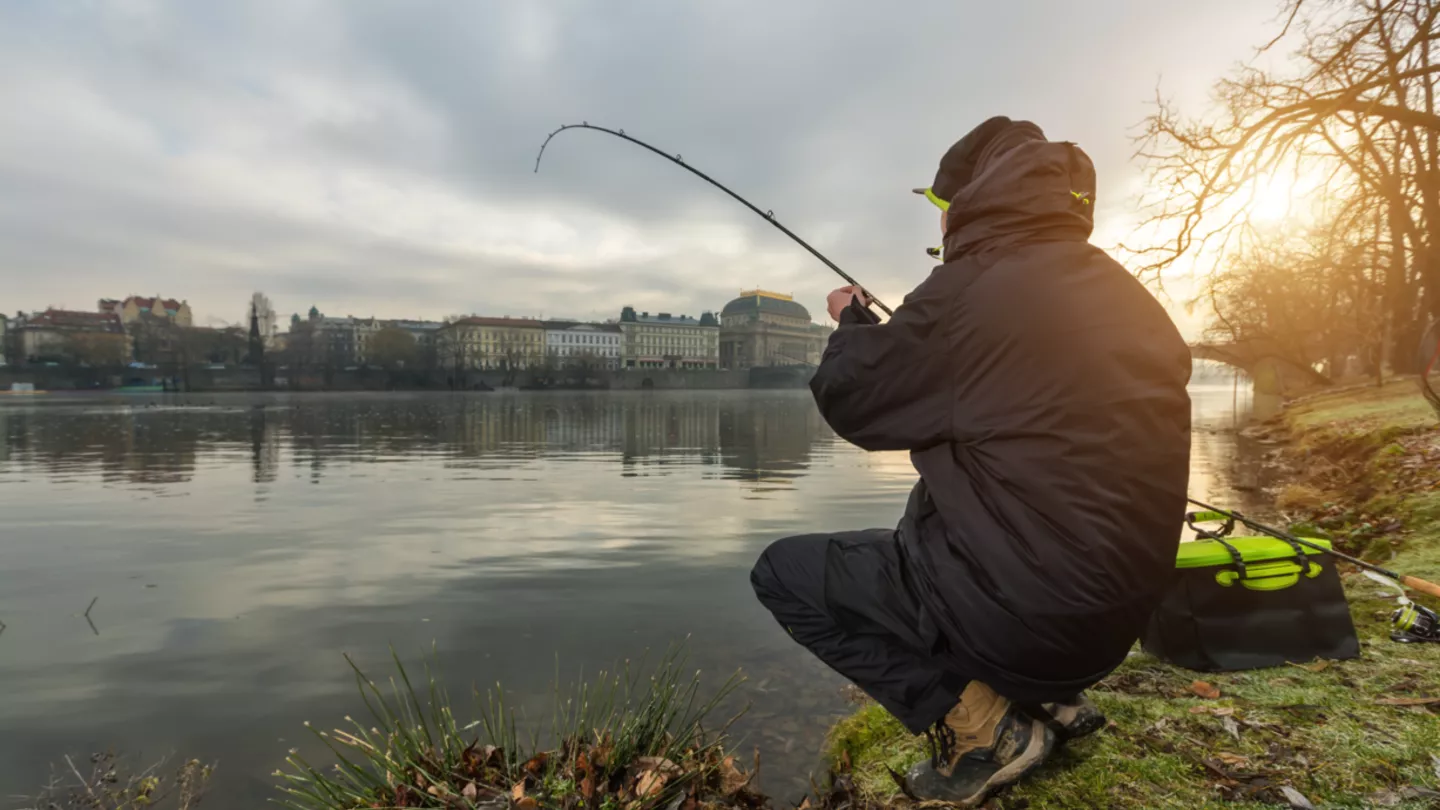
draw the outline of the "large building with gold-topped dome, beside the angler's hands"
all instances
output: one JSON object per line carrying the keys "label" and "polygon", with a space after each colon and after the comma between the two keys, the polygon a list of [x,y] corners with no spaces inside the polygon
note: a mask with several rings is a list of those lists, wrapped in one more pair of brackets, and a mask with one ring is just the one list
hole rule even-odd
{"label": "large building with gold-topped dome, beside the angler's hands", "polygon": [[795,298],[746,290],[720,310],[720,368],[815,366],[829,333]]}

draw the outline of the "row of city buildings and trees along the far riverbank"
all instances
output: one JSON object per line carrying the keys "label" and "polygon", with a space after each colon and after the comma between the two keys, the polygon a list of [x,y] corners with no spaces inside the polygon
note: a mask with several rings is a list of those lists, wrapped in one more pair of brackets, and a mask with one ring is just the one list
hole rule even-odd
{"label": "row of city buildings and trees along the far riverbank", "polygon": [[261,291],[249,313],[249,329],[196,326],[187,300],[163,295],[98,298],[89,311],[17,311],[0,317],[0,365],[264,369],[274,356],[282,366],[327,370],[750,369],[814,366],[832,331],[791,295],[759,288],[698,317],[626,306],[603,321],[475,314],[438,321],[327,316],[311,304],[279,331]]}

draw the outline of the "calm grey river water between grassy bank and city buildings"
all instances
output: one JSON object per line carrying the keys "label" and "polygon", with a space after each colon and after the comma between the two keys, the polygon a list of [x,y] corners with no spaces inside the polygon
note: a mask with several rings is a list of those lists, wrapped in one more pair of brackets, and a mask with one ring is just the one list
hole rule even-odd
{"label": "calm grey river water between grassy bank and city buildings", "polygon": [[[1234,503],[1246,395],[1192,399],[1191,491]],[[0,398],[0,806],[99,749],[216,760],[206,804],[255,806],[304,721],[363,712],[344,653],[433,644],[452,693],[549,728],[557,666],[685,637],[707,685],[743,670],[736,731],[798,798],[842,682],[749,568],[893,526],[913,479],[804,391]]]}

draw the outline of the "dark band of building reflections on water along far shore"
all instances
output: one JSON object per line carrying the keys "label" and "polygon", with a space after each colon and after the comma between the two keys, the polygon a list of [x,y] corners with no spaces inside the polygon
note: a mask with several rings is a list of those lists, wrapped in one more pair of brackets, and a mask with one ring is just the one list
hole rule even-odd
{"label": "dark band of building reflections on water along far shore", "polygon": [[243,396],[65,399],[0,408],[10,473],[99,471],[137,484],[189,481],[202,451],[245,444],[252,481],[282,464],[314,481],[327,467],[441,457],[452,468],[611,455],[628,476],[667,466],[720,466],[724,477],[783,483],[802,476],[824,419],[795,393]]}

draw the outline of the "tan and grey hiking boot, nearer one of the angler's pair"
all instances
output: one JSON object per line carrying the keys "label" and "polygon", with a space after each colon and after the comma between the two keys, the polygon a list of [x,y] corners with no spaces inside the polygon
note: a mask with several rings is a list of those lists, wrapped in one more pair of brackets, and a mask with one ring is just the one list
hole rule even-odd
{"label": "tan and grey hiking boot, nearer one of the angler's pair", "polygon": [[994,689],[972,680],[930,735],[930,761],[910,770],[922,800],[978,807],[996,790],[1035,770],[1056,747],[1056,732]]}

